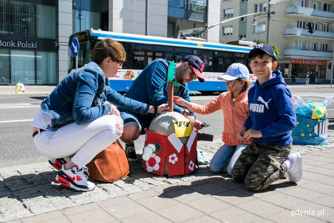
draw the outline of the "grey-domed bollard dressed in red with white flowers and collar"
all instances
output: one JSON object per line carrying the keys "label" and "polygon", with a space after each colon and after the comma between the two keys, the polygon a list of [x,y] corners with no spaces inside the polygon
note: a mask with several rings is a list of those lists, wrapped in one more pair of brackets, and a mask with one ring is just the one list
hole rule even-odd
{"label": "grey-domed bollard dressed in red with white flowers and collar", "polygon": [[194,172],[197,158],[197,131],[177,112],[164,112],[146,129],[142,166],[159,176]]}

